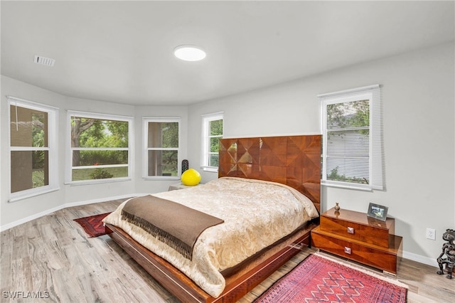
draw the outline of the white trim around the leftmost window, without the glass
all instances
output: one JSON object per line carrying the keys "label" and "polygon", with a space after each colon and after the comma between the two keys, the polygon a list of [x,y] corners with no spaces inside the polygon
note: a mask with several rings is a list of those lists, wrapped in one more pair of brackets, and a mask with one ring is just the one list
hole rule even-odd
{"label": "white trim around the leftmost window, without the glass", "polygon": [[[47,140],[48,144],[47,147],[11,147],[11,123],[9,123],[9,176],[11,176],[11,153],[14,151],[47,151],[48,152],[48,185],[39,186],[36,188],[29,188],[22,191],[16,191],[11,193],[11,178],[9,179],[9,202],[14,202],[18,200],[22,200],[25,198],[31,198],[33,196],[38,196],[43,193],[50,193],[52,191],[58,191],[60,188],[58,186],[58,146],[57,146],[57,138],[58,138],[58,107],[52,107],[49,105],[42,105],[37,102],[24,100],[18,97],[11,97],[6,96],[8,100],[8,117],[10,121],[15,121],[16,127],[18,125],[18,117],[17,111],[16,113],[11,112],[11,106],[16,107],[23,107],[28,110],[37,110],[39,112],[45,112],[47,114],[48,119],[48,129],[47,129]],[[14,114],[14,117],[11,115]]]}

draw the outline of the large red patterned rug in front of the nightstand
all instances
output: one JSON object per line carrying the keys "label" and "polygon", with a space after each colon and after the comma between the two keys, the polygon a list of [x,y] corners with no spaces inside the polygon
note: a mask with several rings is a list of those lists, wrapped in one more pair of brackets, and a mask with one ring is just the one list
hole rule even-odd
{"label": "large red patterned rug in front of the nightstand", "polygon": [[309,255],[255,303],[406,302],[407,286],[377,273]]}

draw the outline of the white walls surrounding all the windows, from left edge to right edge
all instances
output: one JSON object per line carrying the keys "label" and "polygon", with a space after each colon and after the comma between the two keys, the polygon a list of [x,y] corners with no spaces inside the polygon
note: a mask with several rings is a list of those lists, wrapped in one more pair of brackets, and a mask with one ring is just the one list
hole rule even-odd
{"label": "white walls surrounding all the windows, from left edge to right edge", "polygon": [[[190,107],[132,107],[65,97],[11,78],[1,77],[0,227],[41,216],[80,201],[133,193],[166,191],[172,181],[141,179],[142,117],[181,117],[183,157],[200,164],[200,115],[225,112],[225,137],[318,134],[316,95],[378,83],[384,101],[385,191],[362,192],[322,188],[322,210],[339,202],[342,208],[366,211],[368,203],[389,207],[396,233],[404,238],[405,257],[436,265],[441,234],[455,228],[455,72],[454,44],[417,50],[351,66],[242,95],[210,100]],[[9,203],[8,110],[5,95],[60,107],[60,191]],[[112,186],[68,186],[65,169],[65,110],[132,115],[134,176]],[[187,149],[188,148],[188,149]],[[218,174],[202,173],[203,182]],[[425,239],[425,228],[437,230],[437,240]]]}

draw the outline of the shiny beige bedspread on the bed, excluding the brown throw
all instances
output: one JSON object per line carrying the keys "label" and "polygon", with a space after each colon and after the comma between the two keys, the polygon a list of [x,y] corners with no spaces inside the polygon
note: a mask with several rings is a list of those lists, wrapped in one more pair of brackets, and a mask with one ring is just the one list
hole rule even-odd
{"label": "shiny beige bedspread on the bed, excluding the brown throw", "polygon": [[200,234],[193,259],[122,220],[122,203],[104,219],[125,232],[218,297],[225,288],[220,271],[233,267],[319,216],[314,204],[294,188],[267,181],[224,177],[192,188],[155,193],[225,220]]}

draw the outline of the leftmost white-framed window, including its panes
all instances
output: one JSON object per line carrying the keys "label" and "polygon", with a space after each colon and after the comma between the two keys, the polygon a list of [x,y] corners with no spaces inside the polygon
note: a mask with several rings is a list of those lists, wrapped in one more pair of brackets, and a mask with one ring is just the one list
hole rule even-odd
{"label": "leftmost white-framed window, including its panes", "polygon": [[8,97],[11,161],[9,201],[58,189],[58,109]]}

